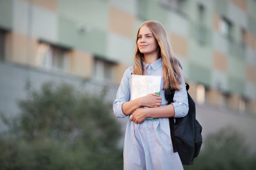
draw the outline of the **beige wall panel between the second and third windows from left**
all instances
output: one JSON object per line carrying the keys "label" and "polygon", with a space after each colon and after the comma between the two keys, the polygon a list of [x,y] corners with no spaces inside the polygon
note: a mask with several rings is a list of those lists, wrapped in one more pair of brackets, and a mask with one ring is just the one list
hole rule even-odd
{"label": "beige wall panel between the second and third windows from left", "polygon": [[69,53],[69,73],[83,78],[92,77],[93,57],[81,51]]}

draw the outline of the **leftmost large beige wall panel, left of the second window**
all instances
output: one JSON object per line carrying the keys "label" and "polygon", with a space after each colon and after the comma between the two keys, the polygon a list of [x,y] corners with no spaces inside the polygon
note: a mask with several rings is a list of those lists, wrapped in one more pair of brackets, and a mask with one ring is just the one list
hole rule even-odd
{"label": "leftmost large beige wall panel, left of the second window", "polygon": [[7,61],[34,67],[37,40],[15,32],[8,34],[7,39]]}

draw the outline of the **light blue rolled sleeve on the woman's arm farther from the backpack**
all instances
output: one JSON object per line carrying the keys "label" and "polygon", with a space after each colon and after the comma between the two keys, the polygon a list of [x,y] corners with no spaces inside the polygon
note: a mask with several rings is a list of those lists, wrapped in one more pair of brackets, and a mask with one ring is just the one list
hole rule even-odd
{"label": "light blue rolled sleeve on the woman's arm farther from the backpack", "polygon": [[122,110],[124,102],[130,101],[130,86],[128,74],[129,68],[124,72],[124,76],[121,80],[120,86],[116,93],[116,100],[113,103],[114,115],[119,118],[127,117]]}

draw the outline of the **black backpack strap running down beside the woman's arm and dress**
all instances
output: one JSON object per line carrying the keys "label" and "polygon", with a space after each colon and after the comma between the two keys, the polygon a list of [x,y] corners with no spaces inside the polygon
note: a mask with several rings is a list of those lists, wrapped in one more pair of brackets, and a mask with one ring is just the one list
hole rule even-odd
{"label": "black backpack strap running down beside the woman's arm and dress", "polygon": [[[167,89],[168,104],[173,103],[174,93],[175,93],[175,90],[172,90],[171,87],[169,86],[169,88]],[[176,146],[175,136],[174,136],[174,118],[173,117],[169,117],[169,124],[170,124],[173,153],[175,153],[177,152],[177,146]]]}

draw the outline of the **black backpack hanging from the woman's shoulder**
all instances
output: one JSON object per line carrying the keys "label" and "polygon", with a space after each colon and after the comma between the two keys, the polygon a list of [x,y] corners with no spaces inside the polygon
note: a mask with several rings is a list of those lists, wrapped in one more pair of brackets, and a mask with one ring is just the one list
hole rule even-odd
{"label": "black backpack hanging from the woman's shoulder", "polygon": [[[186,83],[187,94],[188,89],[189,85]],[[165,90],[165,98],[168,104],[173,103],[174,93],[175,91],[169,85],[169,88]],[[175,123],[173,117],[169,117],[173,153],[178,151],[183,165],[194,163],[194,158],[198,156],[203,143],[202,126],[196,120],[195,102],[189,94],[188,107],[188,114],[185,117],[176,118]]]}

